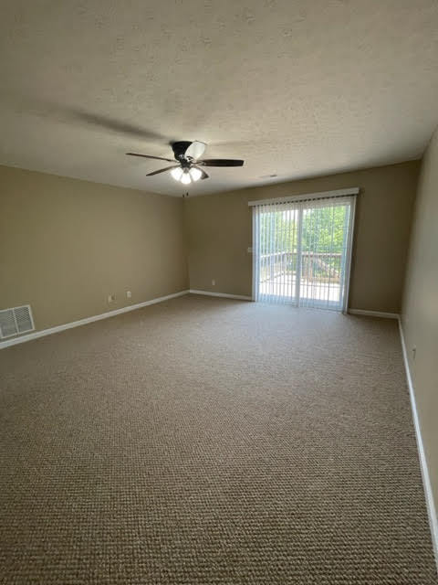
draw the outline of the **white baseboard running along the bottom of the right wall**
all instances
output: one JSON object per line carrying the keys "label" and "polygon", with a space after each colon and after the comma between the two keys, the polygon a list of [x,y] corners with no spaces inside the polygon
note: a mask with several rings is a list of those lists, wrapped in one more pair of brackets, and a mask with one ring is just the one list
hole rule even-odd
{"label": "white baseboard running along the bottom of the right wall", "polygon": [[427,467],[426,455],[424,446],[422,444],[422,428],[418,418],[418,410],[415,402],[415,391],[412,384],[411,368],[409,367],[408,354],[406,350],[406,343],[404,341],[403,328],[401,325],[401,318],[399,317],[399,330],[401,338],[401,351],[403,354],[404,369],[406,370],[406,379],[408,381],[409,397],[411,399],[412,420],[415,429],[415,438],[417,440],[417,451],[420,459],[420,468],[422,470],[422,486],[424,489],[424,497],[426,500],[427,515],[429,516],[429,526],[431,528],[433,553],[435,555],[435,562],[438,569],[438,518],[436,516],[435,504],[433,501],[433,491],[429,470]]}

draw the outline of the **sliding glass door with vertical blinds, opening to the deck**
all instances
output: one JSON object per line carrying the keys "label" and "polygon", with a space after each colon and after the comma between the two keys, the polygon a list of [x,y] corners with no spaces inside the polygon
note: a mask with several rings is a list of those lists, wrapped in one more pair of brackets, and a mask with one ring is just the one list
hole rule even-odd
{"label": "sliding glass door with vertical blinds, opening to the deck", "polygon": [[253,207],[255,301],[346,309],[354,197]]}

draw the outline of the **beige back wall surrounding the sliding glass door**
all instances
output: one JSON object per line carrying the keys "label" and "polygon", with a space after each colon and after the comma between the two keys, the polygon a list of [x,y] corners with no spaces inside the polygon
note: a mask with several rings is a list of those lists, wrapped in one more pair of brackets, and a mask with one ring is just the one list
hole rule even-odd
{"label": "beige back wall surrounding the sliding glass door", "polygon": [[186,199],[190,287],[251,295],[248,201],[359,186],[350,307],[399,313],[419,165],[413,161]]}

